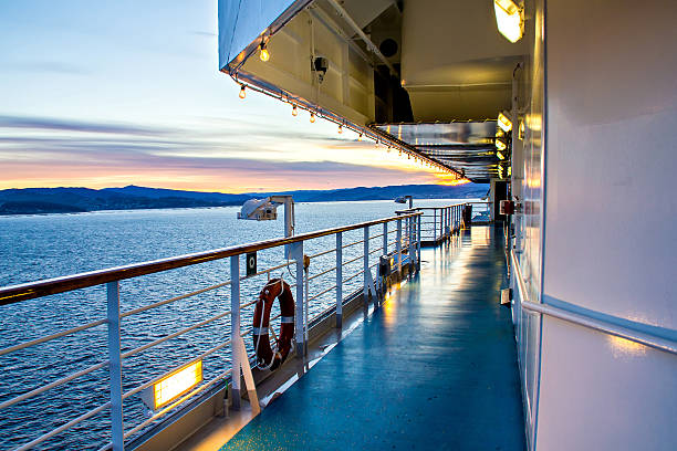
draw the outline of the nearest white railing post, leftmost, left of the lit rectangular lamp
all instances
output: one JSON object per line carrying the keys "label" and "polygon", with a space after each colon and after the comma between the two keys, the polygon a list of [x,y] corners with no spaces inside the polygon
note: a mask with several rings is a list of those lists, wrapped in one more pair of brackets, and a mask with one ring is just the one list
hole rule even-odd
{"label": "nearest white railing post, leftmost, left of the lit rectangular lamp", "polygon": [[113,451],[125,449],[122,403],[122,356],[119,343],[119,282],[106,283],[108,325],[108,374],[111,378],[111,432]]}

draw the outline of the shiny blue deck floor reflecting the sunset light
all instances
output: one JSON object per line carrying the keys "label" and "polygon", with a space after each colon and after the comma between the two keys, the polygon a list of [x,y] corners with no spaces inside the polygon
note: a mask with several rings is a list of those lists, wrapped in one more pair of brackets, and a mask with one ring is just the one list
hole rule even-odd
{"label": "shiny blue deck floor reflecting the sunset light", "polygon": [[493,233],[424,249],[420,275],[222,450],[524,450]]}

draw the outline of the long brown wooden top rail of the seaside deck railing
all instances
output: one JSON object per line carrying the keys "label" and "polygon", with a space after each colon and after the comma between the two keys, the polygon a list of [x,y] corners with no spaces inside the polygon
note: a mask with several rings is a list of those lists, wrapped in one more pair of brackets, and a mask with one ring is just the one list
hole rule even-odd
{"label": "long brown wooden top rail of the seaside deck railing", "polygon": [[416,212],[392,218],[383,218],[352,226],[344,226],[333,229],[319,230],[315,232],[302,233],[295,237],[277,238],[272,240],[264,240],[248,244],[233,245],[230,248],[215,249],[211,251],[196,252],[192,254],[170,256],[167,259],[133,263],[124,266],[110,268],[105,270],[91,271],[54,279],[46,279],[38,282],[29,282],[19,285],[4,286],[0,289],[0,305],[14,304],[21,301],[28,301],[35,297],[46,296],[50,294],[64,293],[72,290],[101,285],[107,282],[154,274],[157,272],[175,270],[178,268],[189,266],[197,263],[221,260],[228,256],[240,255],[248,252],[262,251],[264,249],[277,248],[283,244],[298,243],[301,241],[322,238],[338,232],[348,232],[351,230],[363,229],[365,227],[402,220],[403,218],[414,218],[420,214],[423,214],[423,212]]}

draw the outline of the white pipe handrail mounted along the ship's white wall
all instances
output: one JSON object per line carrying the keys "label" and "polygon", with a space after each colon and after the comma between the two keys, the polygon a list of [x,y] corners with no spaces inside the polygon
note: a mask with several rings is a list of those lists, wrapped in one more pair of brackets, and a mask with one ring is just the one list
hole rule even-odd
{"label": "white pipe handrail mounted along the ship's white wall", "polygon": [[590,315],[584,315],[579,312],[571,312],[566,308],[558,307],[551,304],[539,304],[528,301],[524,294],[527,293],[527,286],[524,279],[522,279],[522,271],[514,254],[514,250],[510,251],[510,258],[512,260],[512,266],[514,266],[514,275],[518,281],[518,287],[520,290],[520,307],[530,312],[534,312],[541,315],[549,315],[559,319],[566,321],[569,323],[576,324],[579,326],[592,328],[613,335],[616,337],[625,338],[631,342],[639,343],[640,345],[653,347],[654,349],[663,350],[669,354],[677,354],[677,343],[673,339],[657,336],[652,333],[635,331],[631,327],[615,324],[611,321],[604,321],[594,318]]}

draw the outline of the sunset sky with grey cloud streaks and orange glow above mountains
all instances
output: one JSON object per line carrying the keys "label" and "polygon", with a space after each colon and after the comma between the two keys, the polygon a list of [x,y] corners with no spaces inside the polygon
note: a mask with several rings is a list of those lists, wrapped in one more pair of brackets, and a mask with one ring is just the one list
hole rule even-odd
{"label": "sunset sky with grey cloud streaks and orange glow above mountains", "polygon": [[217,1],[0,2],[0,189],[246,192],[434,172],[218,72]]}

